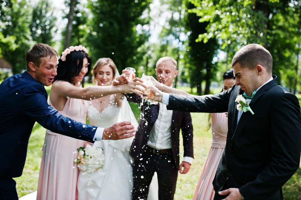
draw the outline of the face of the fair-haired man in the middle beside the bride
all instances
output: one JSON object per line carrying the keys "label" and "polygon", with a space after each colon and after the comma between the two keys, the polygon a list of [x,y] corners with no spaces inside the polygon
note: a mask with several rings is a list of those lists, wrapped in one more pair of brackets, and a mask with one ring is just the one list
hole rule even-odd
{"label": "face of the fair-haired man in the middle beside the bride", "polygon": [[177,66],[170,60],[162,62],[156,67],[157,80],[164,85],[171,86],[177,74]]}

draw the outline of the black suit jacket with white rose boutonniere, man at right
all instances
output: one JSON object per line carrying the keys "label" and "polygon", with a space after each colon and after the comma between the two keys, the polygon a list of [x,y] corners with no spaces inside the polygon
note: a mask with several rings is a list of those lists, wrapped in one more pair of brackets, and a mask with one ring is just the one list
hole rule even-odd
{"label": "black suit jacket with white rose boutonniere, man at right", "polygon": [[205,98],[170,95],[168,109],[228,112],[227,143],[213,180],[216,192],[226,184],[239,188],[246,200],[281,199],[281,186],[299,168],[299,101],[273,78],[253,97],[254,115],[244,112],[238,124],[235,98],[243,93],[240,86]]}

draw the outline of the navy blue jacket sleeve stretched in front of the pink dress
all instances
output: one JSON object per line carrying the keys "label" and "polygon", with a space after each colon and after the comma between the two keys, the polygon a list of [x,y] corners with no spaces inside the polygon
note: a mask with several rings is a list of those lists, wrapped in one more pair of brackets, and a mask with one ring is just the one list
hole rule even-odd
{"label": "navy blue jacket sleeve stretched in front of the pink dress", "polygon": [[42,85],[34,85],[23,94],[22,109],[26,115],[54,133],[94,142],[97,127],[63,117],[56,109],[48,105],[47,93]]}

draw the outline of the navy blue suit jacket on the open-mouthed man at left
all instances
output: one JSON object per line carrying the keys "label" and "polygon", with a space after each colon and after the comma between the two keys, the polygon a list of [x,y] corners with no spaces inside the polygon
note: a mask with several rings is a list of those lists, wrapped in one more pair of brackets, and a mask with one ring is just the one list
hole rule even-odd
{"label": "navy blue suit jacket on the open-mouthed man at left", "polygon": [[13,75],[0,85],[0,177],[19,177],[26,160],[29,136],[38,122],[55,133],[94,142],[95,126],[63,117],[47,103],[47,92],[27,72]]}

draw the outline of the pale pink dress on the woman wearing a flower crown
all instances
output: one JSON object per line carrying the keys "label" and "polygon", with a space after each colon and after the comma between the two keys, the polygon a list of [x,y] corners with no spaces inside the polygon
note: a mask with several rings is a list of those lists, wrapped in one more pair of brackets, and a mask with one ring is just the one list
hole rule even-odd
{"label": "pale pink dress on the woman wearing a flower crown", "polygon": [[[51,105],[51,102],[49,101]],[[68,98],[64,109],[65,117],[85,123],[88,101]],[[79,170],[74,163],[77,148],[85,141],[46,130],[45,143],[39,175],[37,200],[77,200],[77,177]]]}

